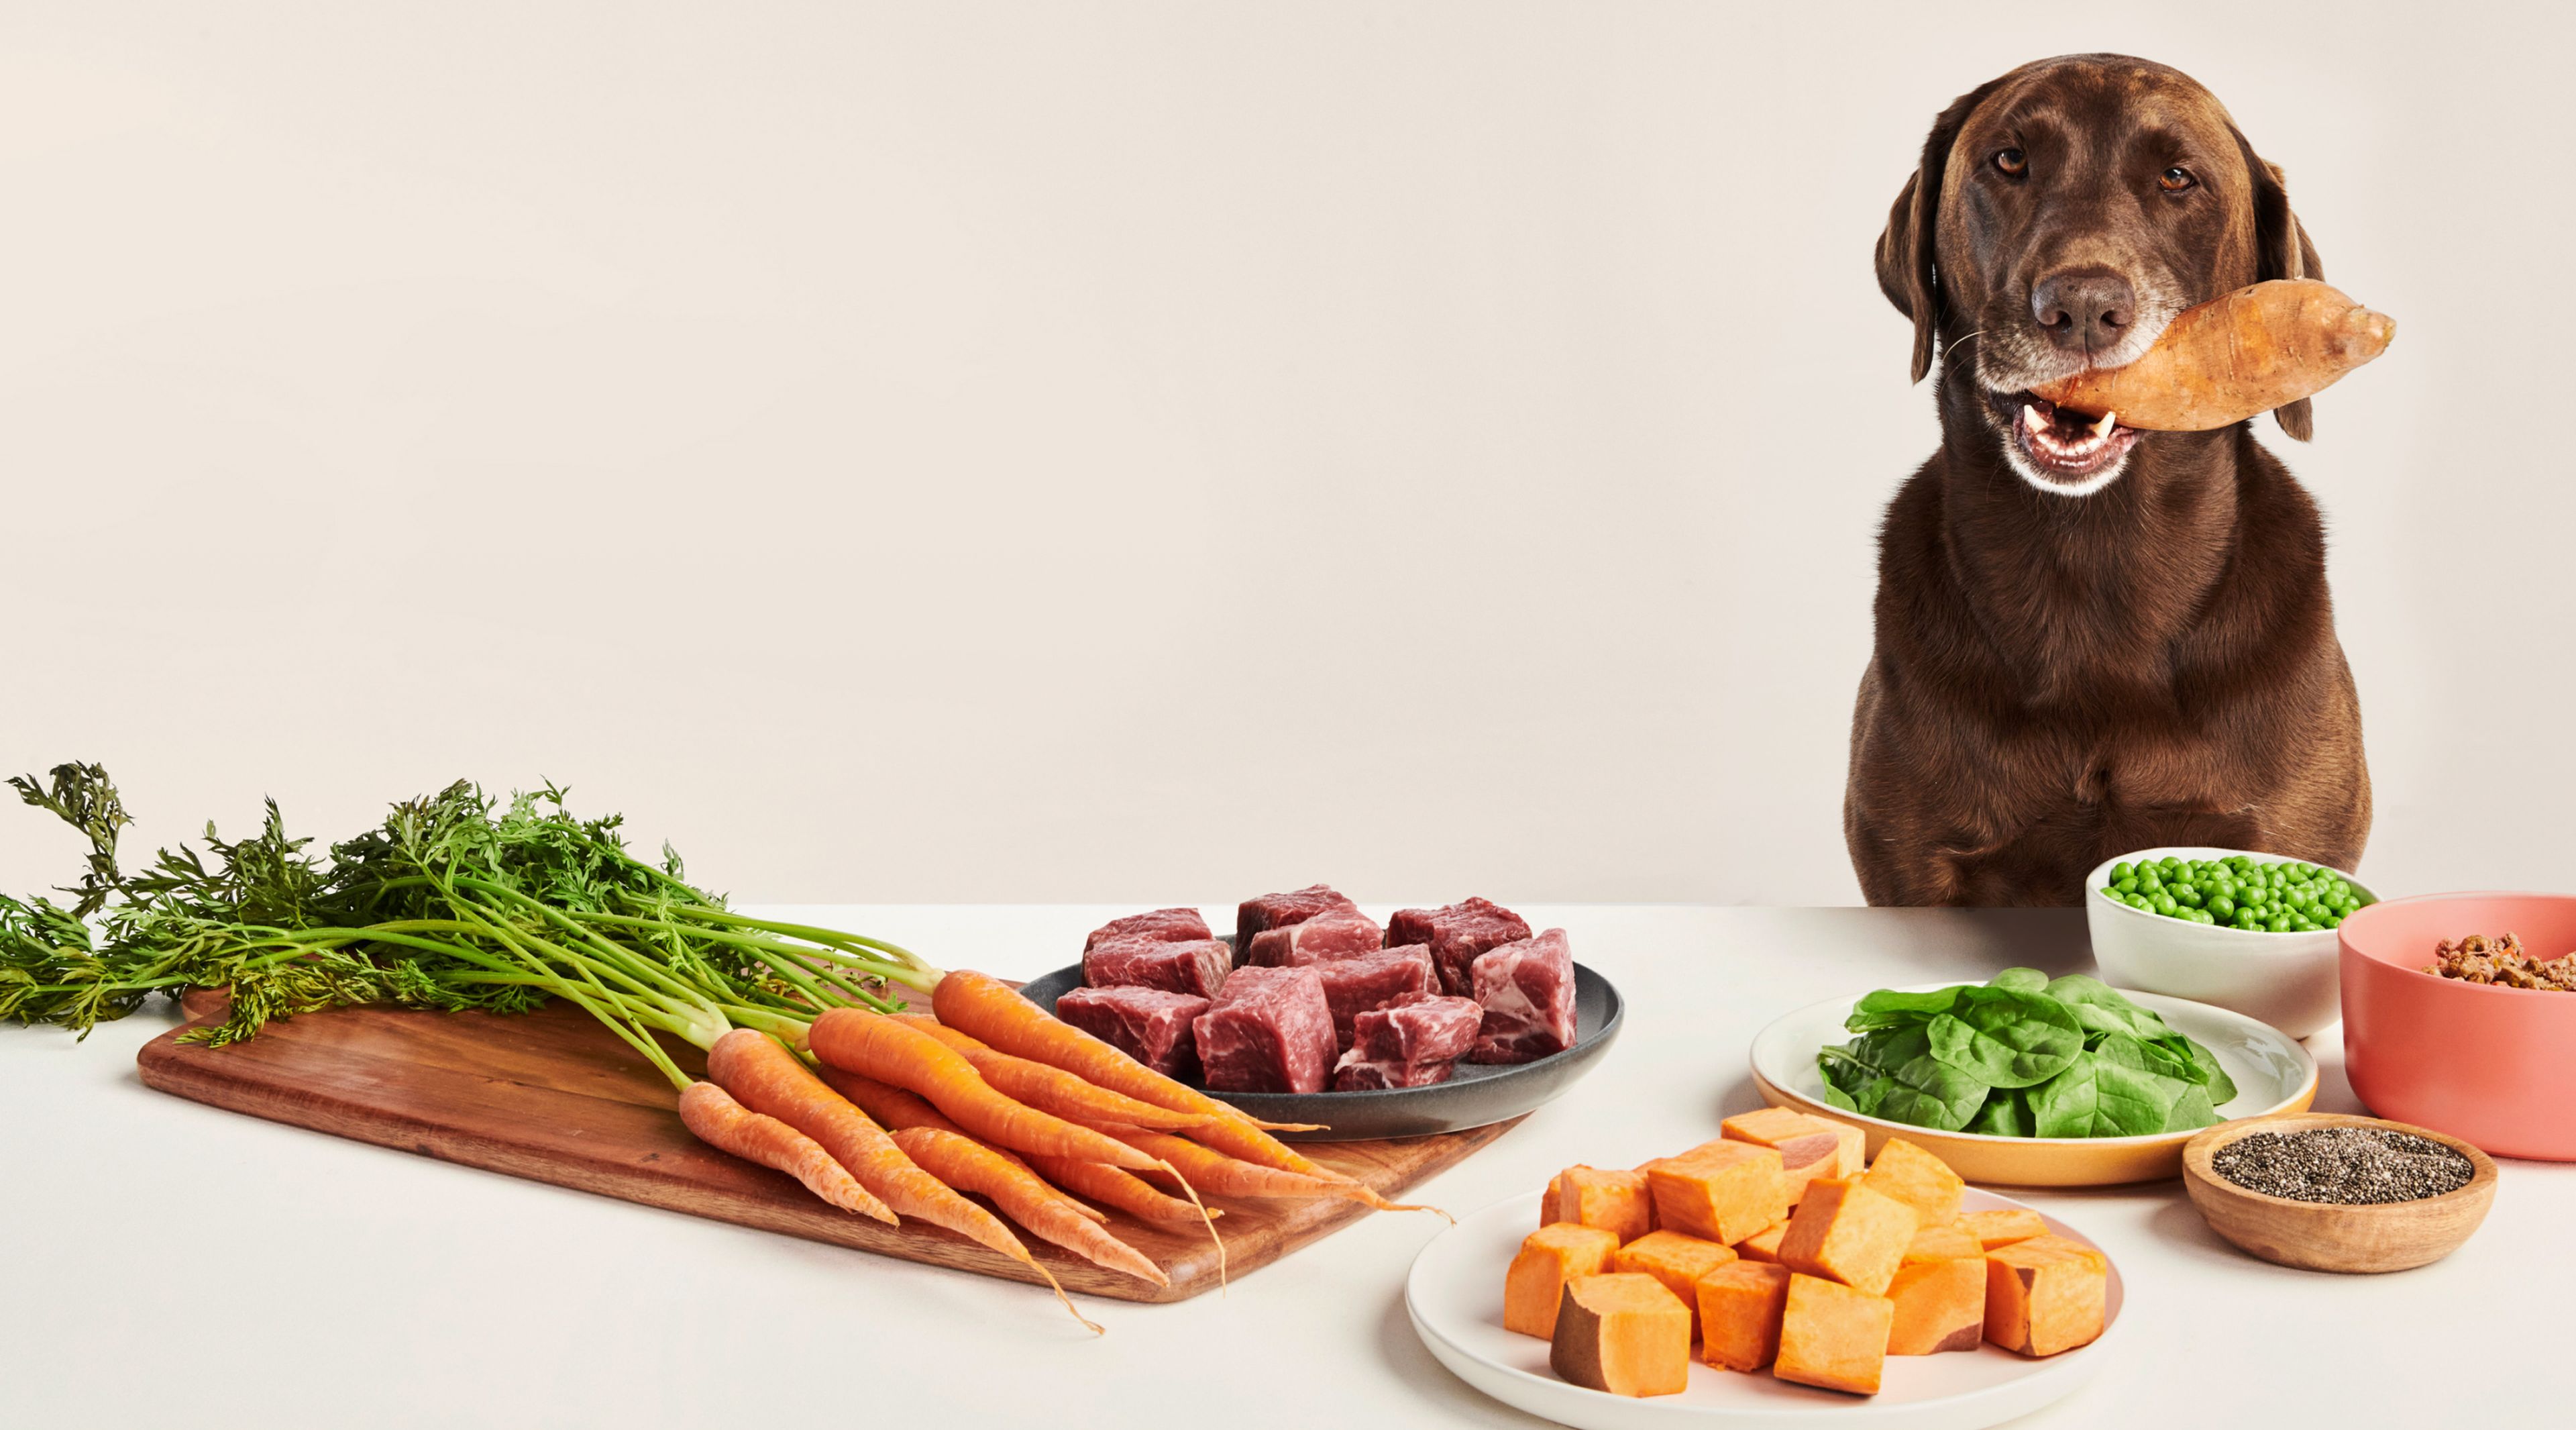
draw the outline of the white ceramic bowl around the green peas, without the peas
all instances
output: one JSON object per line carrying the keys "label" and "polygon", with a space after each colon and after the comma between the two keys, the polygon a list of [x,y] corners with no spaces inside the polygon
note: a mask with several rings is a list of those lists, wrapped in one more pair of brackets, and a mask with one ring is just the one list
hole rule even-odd
{"label": "white ceramic bowl around the green peas, without the peas", "polygon": [[[2084,925],[2092,930],[2094,964],[2102,982],[2123,989],[2146,989],[2192,1002],[2215,1002],[2269,1023],[2293,1038],[2306,1038],[2342,1018],[2336,992],[2336,933],[2251,933],[2190,922],[2146,910],[2133,910],[2102,891],[2117,863],[2146,858],[2231,858],[2246,855],[2254,863],[2308,863],[2277,853],[2218,850],[2218,848],[2159,848],[2125,853],[2105,861],[2084,879]],[[2318,866],[2329,868],[2329,866]],[[2334,871],[2362,894],[2378,897],[2360,879]]]}

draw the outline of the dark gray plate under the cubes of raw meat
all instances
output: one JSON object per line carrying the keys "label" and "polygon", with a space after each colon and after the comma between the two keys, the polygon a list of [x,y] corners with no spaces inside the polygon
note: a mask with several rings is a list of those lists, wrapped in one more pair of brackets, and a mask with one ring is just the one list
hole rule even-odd
{"label": "dark gray plate under the cubes of raw meat", "polygon": [[[1020,992],[1054,1013],[1056,997],[1082,987],[1082,964],[1030,979]],[[1327,1131],[1280,1134],[1288,1141],[1365,1141],[1378,1136],[1430,1136],[1517,1118],[1556,1098],[1592,1069],[1625,1015],[1610,979],[1574,964],[1574,1046],[1517,1064],[1461,1062],[1448,1082],[1430,1087],[1376,1087],[1370,1092],[1216,1092],[1270,1123],[1324,1123]]]}

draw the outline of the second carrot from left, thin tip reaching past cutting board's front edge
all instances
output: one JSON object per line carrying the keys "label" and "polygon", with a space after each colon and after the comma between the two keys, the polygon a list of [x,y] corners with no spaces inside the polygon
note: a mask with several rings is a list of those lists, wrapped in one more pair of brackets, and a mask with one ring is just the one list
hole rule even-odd
{"label": "second carrot from left, thin tip reaching past cutting board's front edge", "polygon": [[[757,1038],[757,1041],[744,1041],[744,1038]],[[770,1051],[762,1051],[762,1046],[775,1051],[778,1056],[773,1059]],[[1046,1278],[1048,1291],[1056,1293],[1056,1301],[1064,1301],[1064,1309],[1077,1322],[1092,1327],[1092,1332],[1100,1332],[1100,1324],[1074,1309],[1074,1301],[1072,1296],[1064,1293],[1064,1286],[1056,1286],[1056,1275],[1043,1265],[1038,1265],[1038,1257],[1028,1255],[1028,1247],[1020,1244],[1020,1237],[1012,1237],[1010,1226],[1002,1226],[1002,1221],[994,1214],[948,1190],[945,1183],[917,1167],[912,1157],[907,1157],[904,1149],[896,1147],[884,1134],[884,1129],[871,1123],[866,1113],[853,1108],[848,1100],[837,1098],[829,1087],[799,1090],[796,1080],[788,1077],[788,1072],[804,1077],[806,1082],[811,1082],[814,1077],[806,1072],[801,1062],[796,1062],[793,1054],[788,1054],[773,1038],[752,1033],[747,1028],[734,1028],[732,1033],[716,1038],[716,1044],[706,1054],[706,1062],[711,1074],[732,1077],[744,1087],[744,1092],[770,1103],[773,1108],[799,1121],[806,1121],[814,1131],[829,1139],[829,1144],[804,1131],[796,1131],[791,1123],[781,1118],[744,1111],[739,1103],[734,1103],[732,1095],[726,1095],[714,1082],[698,1082],[680,1095],[680,1121],[688,1121],[690,1116],[688,1113],[690,1095],[698,1092],[698,1087],[706,1087],[716,1092],[716,1098],[724,1098],[724,1103],[732,1105],[737,1113],[747,1118],[760,1118],[765,1123],[788,1131],[791,1136],[804,1139],[827,1162],[835,1162],[840,1157],[855,1159],[858,1167],[850,1167],[850,1162],[837,1162],[842,1177],[853,1177],[853,1185],[858,1185],[855,1172],[866,1172],[876,1183],[873,1188],[876,1196],[884,1198],[878,1203],[881,1208],[891,1203],[894,1211],[904,1216],[917,1216],[933,1226],[945,1226],[958,1237],[966,1237],[969,1242],[984,1244],[1025,1265],[1028,1270],[1036,1270],[1041,1278]],[[781,1067],[781,1062],[786,1067]],[[716,1108],[716,1116],[721,1116],[721,1108]],[[688,1121],[688,1129],[698,1131],[698,1123]],[[698,1136],[708,1134],[698,1131]],[[876,1144],[886,1147],[878,1149]],[[719,1147],[724,1144],[719,1141]],[[884,1154],[886,1149],[891,1149],[891,1157]],[[886,1221],[894,1221],[894,1216],[889,1214]]]}

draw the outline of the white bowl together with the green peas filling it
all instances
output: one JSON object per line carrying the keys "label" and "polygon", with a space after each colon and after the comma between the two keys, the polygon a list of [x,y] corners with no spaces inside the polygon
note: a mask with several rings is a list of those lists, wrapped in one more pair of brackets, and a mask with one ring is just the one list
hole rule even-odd
{"label": "white bowl together with the green peas filling it", "polygon": [[2084,881],[2107,984],[2215,1002],[2293,1038],[2342,1015],[2334,930],[2375,902],[2342,868],[2221,848],[2141,850]]}

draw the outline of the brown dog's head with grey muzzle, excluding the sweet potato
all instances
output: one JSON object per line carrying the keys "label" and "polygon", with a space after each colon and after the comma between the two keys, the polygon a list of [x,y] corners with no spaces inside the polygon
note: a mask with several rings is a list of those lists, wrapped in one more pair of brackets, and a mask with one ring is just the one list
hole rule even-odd
{"label": "brown dog's head with grey muzzle, excluding the sweet potato", "polygon": [[[2318,276],[2280,167],[2190,75],[2125,54],[2040,59],[1960,95],[1878,237],[1914,379],[1973,338],[1981,420],[2022,479],[2061,495],[2107,487],[2156,438],[2030,386],[2133,361],[2192,304]],[[2275,417],[2308,438],[2306,399]]]}

